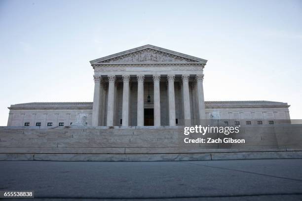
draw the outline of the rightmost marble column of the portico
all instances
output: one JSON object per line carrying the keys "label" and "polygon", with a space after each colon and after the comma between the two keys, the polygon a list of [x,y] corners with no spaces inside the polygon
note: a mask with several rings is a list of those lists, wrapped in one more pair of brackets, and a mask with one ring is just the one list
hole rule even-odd
{"label": "rightmost marble column of the portico", "polygon": [[197,74],[195,79],[197,82],[198,119],[201,124],[204,123],[206,119],[203,96],[203,74]]}

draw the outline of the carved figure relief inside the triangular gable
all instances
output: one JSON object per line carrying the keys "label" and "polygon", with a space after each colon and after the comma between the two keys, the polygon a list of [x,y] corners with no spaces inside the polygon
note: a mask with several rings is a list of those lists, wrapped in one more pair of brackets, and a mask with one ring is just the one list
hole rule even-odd
{"label": "carved figure relief inside the triangular gable", "polygon": [[108,59],[102,61],[100,63],[140,63],[140,62],[197,62],[188,58],[184,58],[181,56],[153,50],[153,49],[145,49],[137,52],[133,52],[130,54],[114,57],[112,59]]}

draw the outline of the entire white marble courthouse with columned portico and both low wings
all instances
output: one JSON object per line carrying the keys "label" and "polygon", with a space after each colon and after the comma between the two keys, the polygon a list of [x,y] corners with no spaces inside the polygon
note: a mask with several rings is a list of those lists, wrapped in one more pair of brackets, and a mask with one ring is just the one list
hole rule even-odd
{"label": "entire white marble courthouse with columned portico and both low wings", "polygon": [[102,57],[90,61],[93,102],[14,104],[8,107],[7,126],[69,126],[79,114],[84,114],[88,126],[181,126],[205,119],[273,124],[290,119],[284,102],[205,101],[206,63],[152,45]]}

